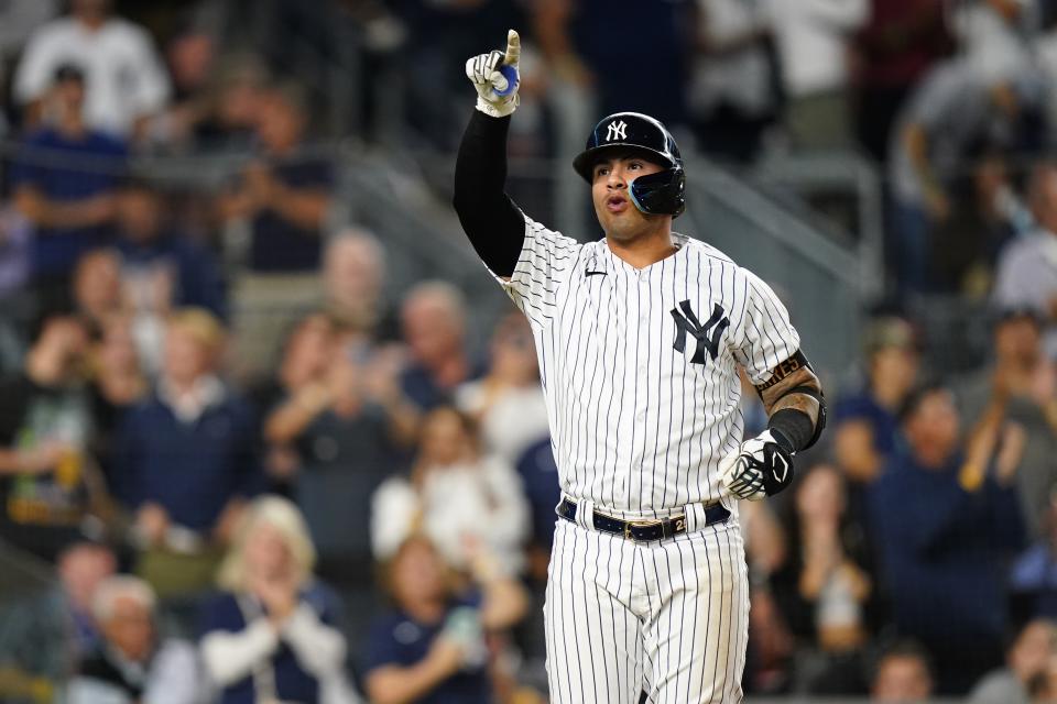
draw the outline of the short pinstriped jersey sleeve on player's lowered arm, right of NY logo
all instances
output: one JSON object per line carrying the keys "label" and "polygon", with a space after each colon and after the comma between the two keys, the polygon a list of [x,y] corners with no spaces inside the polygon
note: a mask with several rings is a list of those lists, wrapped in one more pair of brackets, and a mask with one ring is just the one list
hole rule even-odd
{"label": "short pinstriped jersey sleeve on player's lowered arm, right of NY logo", "polygon": [[752,384],[759,386],[771,378],[774,367],[800,349],[800,336],[771,287],[750,272],[744,276],[745,307],[734,358],[745,367]]}

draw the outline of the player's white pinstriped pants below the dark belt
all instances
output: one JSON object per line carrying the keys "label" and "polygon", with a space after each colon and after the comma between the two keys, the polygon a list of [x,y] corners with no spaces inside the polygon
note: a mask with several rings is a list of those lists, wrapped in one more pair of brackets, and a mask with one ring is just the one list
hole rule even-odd
{"label": "player's white pinstriped pants below the dark belt", "polygon": [[558,519],[544,623],[552,704],[742,701],[749,578],[735,520],[640,543]]}

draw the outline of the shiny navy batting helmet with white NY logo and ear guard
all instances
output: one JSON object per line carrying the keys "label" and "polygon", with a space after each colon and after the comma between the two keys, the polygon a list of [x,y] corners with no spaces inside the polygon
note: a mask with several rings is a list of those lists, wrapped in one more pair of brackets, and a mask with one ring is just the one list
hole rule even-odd
{"label": "shiny navy batting helmet with white NY logo and ear guard", "polygon": [[614,150],[639,152],[647,161],[667,167],[631,183],[631,200],[639,210],[676,218],[683,215],[686,210],[683,157],[675,138],[661,122],[639,112],[617,112],[602,118],[587,139],[587,146],[573,160],[573,168],[591,183],[595,164]]}

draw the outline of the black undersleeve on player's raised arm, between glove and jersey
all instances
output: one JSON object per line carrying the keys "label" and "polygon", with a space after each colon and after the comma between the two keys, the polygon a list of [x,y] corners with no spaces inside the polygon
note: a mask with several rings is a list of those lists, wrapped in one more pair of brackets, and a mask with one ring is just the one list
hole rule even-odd
{"label": "black undersleeve on player's raised arm, between glove and jersey", "polygon": [[473,111],[455,162],[455,211],[478,256],[499,276],[511,276],[525,240],[525,219],[503,191],[510,118]]}

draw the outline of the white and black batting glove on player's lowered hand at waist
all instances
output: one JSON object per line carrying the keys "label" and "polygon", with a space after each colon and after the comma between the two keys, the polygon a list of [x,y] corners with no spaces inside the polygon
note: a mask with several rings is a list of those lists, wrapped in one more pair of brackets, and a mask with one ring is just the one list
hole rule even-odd
{"label": "white and black batting glove on player's lowered hand at waist", "polygon": [[793,483],[793,450],[774,430],[745,440],[719,463],[720,484],[733,496],[758,502]]}

